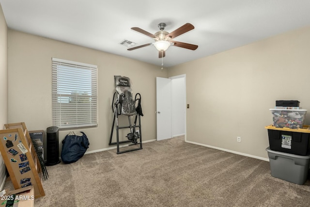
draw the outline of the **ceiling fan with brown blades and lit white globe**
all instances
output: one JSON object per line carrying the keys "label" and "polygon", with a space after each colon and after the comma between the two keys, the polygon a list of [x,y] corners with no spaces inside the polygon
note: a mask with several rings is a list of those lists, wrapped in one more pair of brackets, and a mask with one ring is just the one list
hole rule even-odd
{"label": "ceiling fan with brown blades and lit white globe", "polygon": [[191,49],[191,50],[195,50],[198,48],[198,45],[192,45],[192,44],[188,44],[188,43],[184,43],[184,42],[177,42],[177,41],[173,40],[175,37],[177,37],[181,34],[184,34],[188,31],[193,30],[195,27],[192,24],[186,23],[185,25],[179,27],[178,29],[176,29],[170,33],[167,31],[164,31],[166,26],[167,25],[165,23],[159,23],[158,28],[160,29],[160,31],[156,32],[155,34],[152,34],[150,32],[146,32],[145,30],[142,30],[139,27],[132,27],[131,28],[132,30],[134,30],[136,32],[140,32],[142,34],[145,34],[146,36],[151,37],[152,39],[155,40],[155,42],[140,45],[140,46],[137,46],[134,48],[129,48],[127,50],[134,50],[134,49],[154,45],[155,48],[159,51],[158,57],[163,58],[163,57],[165,57],[165,51],[170,46],[176,46],[176,47],[186,48],[186,49]]}

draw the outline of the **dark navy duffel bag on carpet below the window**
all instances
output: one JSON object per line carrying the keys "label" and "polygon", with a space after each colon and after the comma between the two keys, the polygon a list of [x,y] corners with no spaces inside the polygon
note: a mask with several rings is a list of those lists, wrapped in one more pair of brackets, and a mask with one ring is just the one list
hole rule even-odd
{"label": "dark navy duffel bag on carpet below the window", "polygon": [[89,147],[89,141],[81,131],[81,136],[70,132],[62,141],[62,161],[65,164],[78,161]]}

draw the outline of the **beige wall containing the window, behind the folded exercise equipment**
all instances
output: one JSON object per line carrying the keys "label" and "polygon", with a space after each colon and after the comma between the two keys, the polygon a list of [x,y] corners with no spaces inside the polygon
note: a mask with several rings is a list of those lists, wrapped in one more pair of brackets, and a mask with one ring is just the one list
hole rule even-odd
{"label": "beige wall containing the window, behind the folded exercise equipment", "polygon": [[[115,45],[115,47],[119,47]],[[125,48],[124,48],[125,49]],[[156,139],[155,77],[167,70],[121,56],[9,30],[9,122],[25,122],[29,130],[52,126],[51,58],[98,65],[98,127],[84,131],[88,151],[109,147],[114,75],[131,78],[134,95],[141,94],[143,141]],[[60,142],[68,133],[60,131]],[[126,131],[126,133],[128,133]],[[116,139],[113,138],[114,141]]]}

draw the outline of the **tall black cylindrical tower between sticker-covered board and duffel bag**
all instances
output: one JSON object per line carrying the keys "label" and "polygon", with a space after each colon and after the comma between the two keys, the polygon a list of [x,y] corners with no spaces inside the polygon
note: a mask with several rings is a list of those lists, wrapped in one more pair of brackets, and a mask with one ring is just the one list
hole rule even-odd
{"label": "tall black cylindrical tower between sticker-covered board and duffel bag", "polygon": [[47,128],[47,163],[46,166],[60,163],[58,127]]}

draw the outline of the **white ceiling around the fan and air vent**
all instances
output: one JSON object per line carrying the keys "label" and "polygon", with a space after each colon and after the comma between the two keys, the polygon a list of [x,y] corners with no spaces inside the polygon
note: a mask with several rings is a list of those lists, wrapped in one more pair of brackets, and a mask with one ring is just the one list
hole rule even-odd
{"label": "white ceiling around the fan and air vent", "polygon": [[124,39],[154,42],[132,31],[195,29],[175,38],[198,49],[170,47],[164,67],[182,64],[310,26],[310,0],[0,0],[10,29],[161,65],[154,46],[128,51]]}

